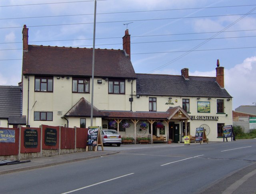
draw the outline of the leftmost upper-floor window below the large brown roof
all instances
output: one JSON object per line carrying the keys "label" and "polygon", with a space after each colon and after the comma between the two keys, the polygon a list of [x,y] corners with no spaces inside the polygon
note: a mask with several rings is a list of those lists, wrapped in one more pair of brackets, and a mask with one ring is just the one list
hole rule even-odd
{"label": "leftmost upper-floor window below the large brown roof", "polygon": [[35,92],[53,92],[53,77],[35,77]]}

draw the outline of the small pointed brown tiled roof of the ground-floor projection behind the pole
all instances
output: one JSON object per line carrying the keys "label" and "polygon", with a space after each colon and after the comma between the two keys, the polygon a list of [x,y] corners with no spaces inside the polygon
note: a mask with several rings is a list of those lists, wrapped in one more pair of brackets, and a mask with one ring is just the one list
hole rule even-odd
{"label": "small pointed brown tiled roof of the ground-floor projection behind the pole", "polygon": [[[98,110],[95,106],[93,107],[92,114],[94,117],[104,116],[103,112]],[[66,114],[64,114],[64,117],[65,116],[91,116],[91,103],[82,97]]]}

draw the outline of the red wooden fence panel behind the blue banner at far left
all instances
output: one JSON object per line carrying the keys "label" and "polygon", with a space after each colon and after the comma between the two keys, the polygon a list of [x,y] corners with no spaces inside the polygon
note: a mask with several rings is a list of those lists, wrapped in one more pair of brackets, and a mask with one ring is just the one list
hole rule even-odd
{"label": "red wooden fence panel behind the blue banner at far left", "polygon": [[10,156],[10,155],[18,155],[19,152],[19,128],[2,128],[0,129],[8,129],[15,130],[15,143],[0,143],[0,156]]}

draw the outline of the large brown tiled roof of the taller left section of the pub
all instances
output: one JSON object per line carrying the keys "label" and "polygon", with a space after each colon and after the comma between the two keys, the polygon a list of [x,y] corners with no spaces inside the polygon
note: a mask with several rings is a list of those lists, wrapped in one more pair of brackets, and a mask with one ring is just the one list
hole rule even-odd
{"label": "large brown tiled roof of the taller left section of the pub", "polygon": [[[91,76],[92,49],[28,45],[23,52],[23,74]],[[94,76],[136,78],[123,50],[95,49]]]}

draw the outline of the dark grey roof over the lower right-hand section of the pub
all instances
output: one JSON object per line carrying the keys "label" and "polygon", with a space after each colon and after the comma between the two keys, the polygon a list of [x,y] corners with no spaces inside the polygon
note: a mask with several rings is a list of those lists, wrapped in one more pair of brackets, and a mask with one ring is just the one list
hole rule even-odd
{"label": "dark grey roof over the lower right-hand section of the pub", "polygon": [[216,82],[216,77],[136,74],[137,94],[152,96],[187,96],[232,98]]}

